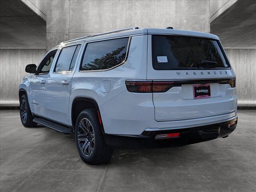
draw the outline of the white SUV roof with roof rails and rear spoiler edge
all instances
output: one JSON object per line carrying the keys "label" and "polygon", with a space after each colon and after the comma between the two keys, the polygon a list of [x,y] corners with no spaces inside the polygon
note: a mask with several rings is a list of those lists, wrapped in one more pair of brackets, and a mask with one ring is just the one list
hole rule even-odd
{"label": "white SUV roof with roof rails and rear spoiler edge", "polygon": [[[159,29],[159,28],[138,28],[138,27],[130,27],[123,28],[119,30],[114,30],[110,32],[104,32],[100,34],[95,34],[91,36],[85,36],[81,38],[76,38],[69,41],[64,41],[58,44],[56,47],[67,46],[70,44],[78,44],[91,42],[96,40],[104,40],[122,36],[136,36],[142,34],[168,34],[168,35],[177,35],[177,36],[193,36],[193,37],[202,37],[202,38],[212,38],[219,40],[218,36],[210,33],[204,32],[196,32],[196,31],[188,31],[188,30],[176,30],[176,29]],[[56,48],[55,47],[55,48]]]}

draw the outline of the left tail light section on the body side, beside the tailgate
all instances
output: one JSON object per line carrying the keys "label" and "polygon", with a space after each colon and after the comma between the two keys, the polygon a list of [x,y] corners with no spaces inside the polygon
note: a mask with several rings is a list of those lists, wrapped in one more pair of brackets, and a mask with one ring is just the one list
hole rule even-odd
{"label": "left tail light section on the body side, beside the tailgate", "polygon": [[152,93],[152,82],[147,81],[126,81],[126,88],[134,93]]}

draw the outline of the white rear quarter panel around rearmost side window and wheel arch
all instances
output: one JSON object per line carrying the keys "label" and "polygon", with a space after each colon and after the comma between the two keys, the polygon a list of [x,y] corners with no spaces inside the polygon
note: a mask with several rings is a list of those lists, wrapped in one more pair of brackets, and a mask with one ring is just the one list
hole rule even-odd
{"label": "white rear quarter panel around rearmost side window and wheel arch", "polygon": [[[85,46],[84,46],[85,47]],[[84,51],[84,47],[83,50]],[[80,54],[76,72],[72,78],[69,103],[69,122],[72,125],[71,109],[76,97],[93,98],[99,108],[126,90],[125,81],[128,79],[146,80],[147,68],[147,35],[133,36],[130,42],[129,54],[124,64],[107,71],[80,72],[82,55]],[[104,86],[109,85],[110,88]],[[103,86],[103,87],[102,87]],[[102,87],[102,88],[101,88]],[[104,89],[108,89],[107,91]],[[112,106],[113,108],[118,106]],[[111,110],[111,108],[109,108]],[[101,112],[104,124],[105,114]]]}

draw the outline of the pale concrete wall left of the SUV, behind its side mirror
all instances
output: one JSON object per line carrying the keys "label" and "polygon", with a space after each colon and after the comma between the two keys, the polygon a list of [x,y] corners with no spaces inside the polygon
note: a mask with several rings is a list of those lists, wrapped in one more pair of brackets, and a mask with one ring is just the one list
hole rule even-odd
{"label": "pale concrete wall left of the SUV, behind its side mirror", "polygon": [[8,102],[17,105],[18,85],[27,73],[27,64],[40,62],[45,49],[0,49],[0,102],[4,105]]}

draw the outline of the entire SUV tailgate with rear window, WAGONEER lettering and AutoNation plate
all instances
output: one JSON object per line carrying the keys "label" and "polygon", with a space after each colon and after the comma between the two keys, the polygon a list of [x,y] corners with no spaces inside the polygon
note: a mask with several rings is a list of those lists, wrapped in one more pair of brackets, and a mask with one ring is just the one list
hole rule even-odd
{"label": "entire SUV tailgate with rear window, WAGONEER lettering and AutoNation plate", "polygon": [[236,110],[234,72],[218,40],[149,35],[147,80],[153,82],[156,121]]}

